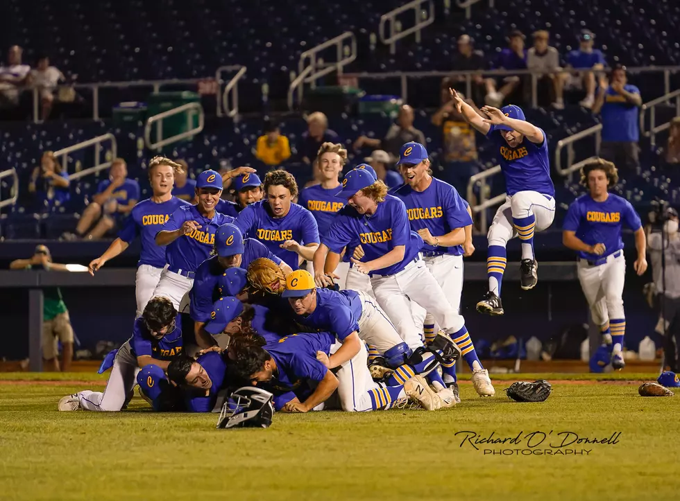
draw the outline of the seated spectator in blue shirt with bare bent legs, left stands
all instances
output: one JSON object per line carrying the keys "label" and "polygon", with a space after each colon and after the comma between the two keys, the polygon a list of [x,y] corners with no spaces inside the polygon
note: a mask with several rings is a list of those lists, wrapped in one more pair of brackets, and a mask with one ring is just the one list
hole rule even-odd
{"label": "seated spectator in blue shirt with bare bent legs, left stands", "polygon": [[[65,234],[67,240],[101,238],[114,229],[139,201],[139,183],[128,179],[125,160],[117,158],[109,170],[108,179],[97,186],[92,202],[85,207],[76,226],[76,234]],[[94,225],[94,227],[92,227]],[[91,229],[92,228],[92,229]],[[90,230],[89,233],[86,232]]]}

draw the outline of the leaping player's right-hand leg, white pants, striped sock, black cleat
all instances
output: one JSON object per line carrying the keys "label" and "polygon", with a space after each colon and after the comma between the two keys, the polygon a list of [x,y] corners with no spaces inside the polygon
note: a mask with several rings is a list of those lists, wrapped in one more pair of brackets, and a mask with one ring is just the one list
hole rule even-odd
{"label": "leaping player's right-hand leg, white pants, striped sock, black cleat", "polygon": [[555,214],[555,200],[536,191],[519,191],[512,195],[510,207],[513,227],[522,241],[522,289],[533,289],[538,281],[538,263],[534,254],[534,234],[539,227],[537,217],[541,219],[541,229],[550,227]]}

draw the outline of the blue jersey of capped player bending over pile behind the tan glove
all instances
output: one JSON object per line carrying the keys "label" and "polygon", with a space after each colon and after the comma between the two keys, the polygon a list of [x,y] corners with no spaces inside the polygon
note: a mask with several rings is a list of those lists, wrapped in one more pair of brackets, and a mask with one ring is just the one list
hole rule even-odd
{"label": "blue jersey of capped player bending over pile behind the tan glove", "polygon": [[[247,270],[248,265],[257,258],[269,258],[276,264],[281,263],[280,258],[271,254],[260,242],[253,238],[245,238],[240,267]],[[218,256],[210,256],[196,268],[194,285],[189,291],[190,315],[195,322],[210,322],[212,305],[219,299],[217,281],[223,273],[224,268],[219,264]]]}

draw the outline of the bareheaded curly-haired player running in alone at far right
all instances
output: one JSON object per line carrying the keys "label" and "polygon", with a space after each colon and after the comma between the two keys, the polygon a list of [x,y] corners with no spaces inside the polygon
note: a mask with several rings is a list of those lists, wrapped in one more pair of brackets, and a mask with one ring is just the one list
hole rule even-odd
{"label": "bareheaded curly-haired player running in alone at far right", "polygon": [[593,322],[600,326],[611,350],[611,366],[623,369],[623,337],[626,317],[623,285],[626,261],[623,256],[622,226],[635,232],[638,258],[633,267],[638,275],[647,270],[646,240],[640,217],[624,198],[607,188],[618,182],[618,171],[609,161],[596,159],[581,168],[581,184],[588,188],[569,206],[562,241],[578,252],[578,275]]}

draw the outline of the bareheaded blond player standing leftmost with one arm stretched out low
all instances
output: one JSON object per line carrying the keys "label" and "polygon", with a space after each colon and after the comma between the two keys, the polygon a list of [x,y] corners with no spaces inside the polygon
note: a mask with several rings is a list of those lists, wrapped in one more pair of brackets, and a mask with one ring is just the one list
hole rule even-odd
{"label": "bareheaded blond player standing leftmost with one arm stretched out low", "polygon": [[137,317],[142,315],[144,306],[151,299],[166,264],[165,249],[156,245],[155,236],[176,209],[190,205],[189,202],[171,195],[174,173],[180,168],[182,168],[180,164],[165,157],[151,159],[148,163],[148,180],[151,182],[153,195],[133,207],[118,238],[88,266],[90,274],[94,276],[94,272],[108,261],[125,252],[135,238],[139,236],[142,239],[142,251],[139,252],[135,280]]}

